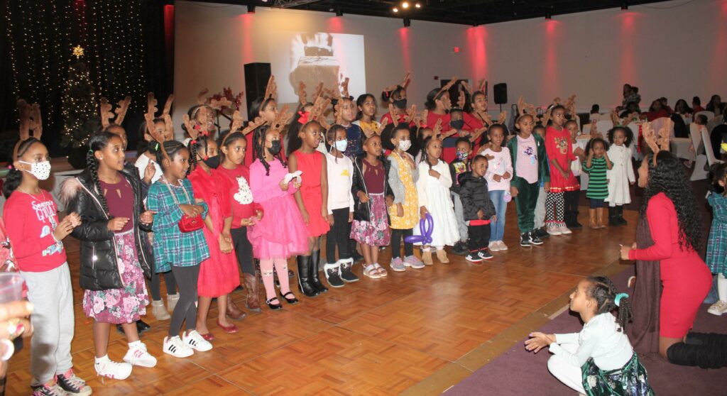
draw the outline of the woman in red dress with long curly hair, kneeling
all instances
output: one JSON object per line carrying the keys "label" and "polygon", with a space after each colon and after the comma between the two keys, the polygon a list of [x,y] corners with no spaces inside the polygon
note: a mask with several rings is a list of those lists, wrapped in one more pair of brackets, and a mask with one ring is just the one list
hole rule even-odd
{"label": "woman in red dress with long curly hair, kneeling", "polygon": [[[646,188],[639,214],[646,217],[654,244],[623,246],[621,258],[660,262],[662,294],[659,301],[651,301],[659,304],[659,355],[675,364],[721,367],[727,364],[726,337],[689,332],[712,286],[712,274],[695,250],[704,235],[694,191],[672,153],[659,151],[656,164],[652,158],[648,155],[641,163],[638,185]],[[639,280],[648,275],[637,275],[635,310],[637,299],[648,298],[639,294]]]}

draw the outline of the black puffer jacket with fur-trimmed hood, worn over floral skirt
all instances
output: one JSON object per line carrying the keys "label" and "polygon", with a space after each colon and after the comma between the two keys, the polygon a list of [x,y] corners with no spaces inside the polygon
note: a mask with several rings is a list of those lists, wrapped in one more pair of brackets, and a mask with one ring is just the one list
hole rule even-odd
{"label": "black puffer jacket with fur-trimmed hood, worn over floral skirt", "polygon": [[[139,216],[144,210],[142,182],[136,168],[124,167],[121,175],[126,177],[134,191],[134,243],[144,275],[149,278],[149,263],[153,262],[148,243],[142,243]],[[99,201],[100,194],[92,182],[91,173],[82,171],[77,177],[66,179],[61,187],[61,198],[68,213],[81,215],[81,225],[73,229],[73,238],[81,241],[81,288],[85,290],[109,290],[123,288],[119,274],[116,249],[113,246],[113,232],[108,230],[108,217]],[[150,231],[150,226],[143,230]]]}

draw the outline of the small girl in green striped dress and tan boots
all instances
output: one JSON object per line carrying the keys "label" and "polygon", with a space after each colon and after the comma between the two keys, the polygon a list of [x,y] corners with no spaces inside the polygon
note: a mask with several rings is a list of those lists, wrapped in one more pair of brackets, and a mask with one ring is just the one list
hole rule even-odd
{"label": "small girl in green striped dress and tan boots", "polygon": [[608,180],[606,172],[613,168],[613,163],[606,154],[607,143],[600,137],[591,139],[586,146],[588,157],[583,163],[583,170],[588,173],[586,198],[590,198],[588,210],[588,227],[592,230],[606,228],[603,225],[603,200],[608,198]]}

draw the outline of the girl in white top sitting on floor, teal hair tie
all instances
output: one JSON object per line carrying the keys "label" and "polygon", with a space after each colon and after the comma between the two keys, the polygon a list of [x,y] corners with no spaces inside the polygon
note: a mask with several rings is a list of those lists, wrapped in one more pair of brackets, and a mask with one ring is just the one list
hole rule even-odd
{"label": "girl in white top sitting on floor, teal hair tie", "polygon": [[531,333],[526,349],[537,353],[549,347],[550,373],[583,395],[654,395],[646,368],[624,332],[632,317],[628,294],[616,293],[606,277],[588,277],[571,293],[570,308],[585,323],[580,333]]}

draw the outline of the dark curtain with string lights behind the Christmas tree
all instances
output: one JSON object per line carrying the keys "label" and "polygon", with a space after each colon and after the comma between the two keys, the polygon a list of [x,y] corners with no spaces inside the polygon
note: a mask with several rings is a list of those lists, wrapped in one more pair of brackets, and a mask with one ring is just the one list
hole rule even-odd
{"label": "dark curtain with string lights behind the Christmas tree", "polygon": [[[174,57],[167,52],[174,45],[173,35],[165,38],[165,5],[161,0],[0,0],[0,161],[7,161],[17,140],[18,98],[41,106],[43,141],[51,155],[68,153],[60,146],[63,92],[76,45],[84,47],[81,60],[89,66],[97,97],[107,97],[115,107],[124,96],[132,97],[123,126],[133,148],[146,93],[164,103],[173,89]],[[172,9],[167,5],[167,14]]]}

